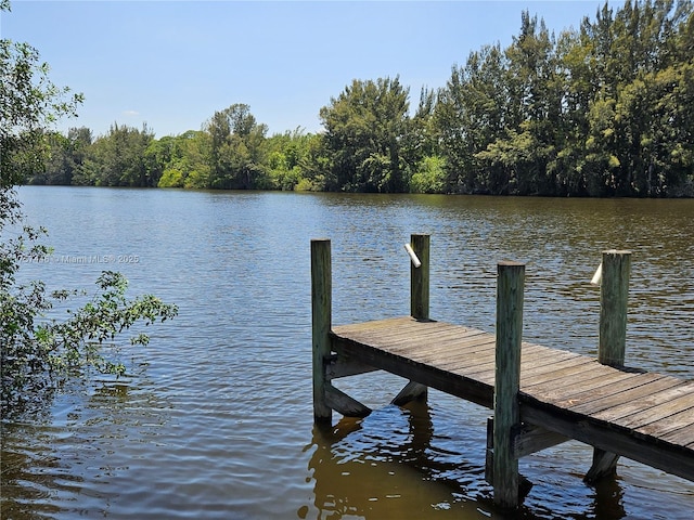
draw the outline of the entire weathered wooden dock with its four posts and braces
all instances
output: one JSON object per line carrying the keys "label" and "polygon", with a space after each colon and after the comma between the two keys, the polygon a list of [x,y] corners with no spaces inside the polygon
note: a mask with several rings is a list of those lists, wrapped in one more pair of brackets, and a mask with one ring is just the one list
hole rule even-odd
{"label": "entire weathered wooden dock with its four posts and braces", "polygon": [[[497,334],[430,320],[428,235],[412,235],[411,315],[332,326],[330,240],[312,240],[313,404],[371,411],[333,379],[376,369],[410,382],[396,404],[427,387],[493,410],[487,478],[494,503],[522,500],[518,459],[575,439],[594,447],[587,480],[613,474],[619,456],[694,481],[694,382],[624,366],[630,255],[603,251],[597,359],[522,341],[525,266],[499,264]],[[420,263],[420,265],[416,265]]]}

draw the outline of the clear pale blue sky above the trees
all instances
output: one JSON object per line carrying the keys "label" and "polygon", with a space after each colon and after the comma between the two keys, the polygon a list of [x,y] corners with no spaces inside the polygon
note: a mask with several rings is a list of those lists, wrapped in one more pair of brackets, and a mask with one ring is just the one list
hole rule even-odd
{"label": "clear pale blue sky above the trees", "polygon": [[511,43],[523,10],[558,34],[603,3],[14,0],[0,30],[36,47],[54,83],[85,94],[61,131],[146,122],[160,138],[245,103],[272,134],[320,131],[320,108],[352,79],[399,75],[414,107],[471,51]]}

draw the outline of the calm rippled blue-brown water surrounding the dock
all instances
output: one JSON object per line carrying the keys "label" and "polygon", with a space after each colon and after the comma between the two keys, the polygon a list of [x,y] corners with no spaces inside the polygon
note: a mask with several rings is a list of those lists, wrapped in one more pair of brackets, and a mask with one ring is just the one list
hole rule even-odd
{"label": "calm rippled blue-brown water surrounding the dock", "polygon": [[[313,429],[316,237],[333,242],[335,324],[408,314],[402,244],[430,233],[434,317],[493,330],[496,263],[519,260],[525,339],[592,355],[589,281],[601,250],[631,249],[628,363],[694,379],[694,200],[20,194],[55,248],[24,277],[89,288],[115,269],[131,295],[180,314],[125,351],[126,379],[75,385],[44,417],[3,421],[3,519],[504,518],[484,482],[487,410],[436,391],[428,407],[389,406],[403,381],[371,374],[339,381],[370,417]],[[535,486],[516,518],[692,518],[694,483],[622,459],[615,481],[589,487],[591,456],[571,442],[522,459]]]}

